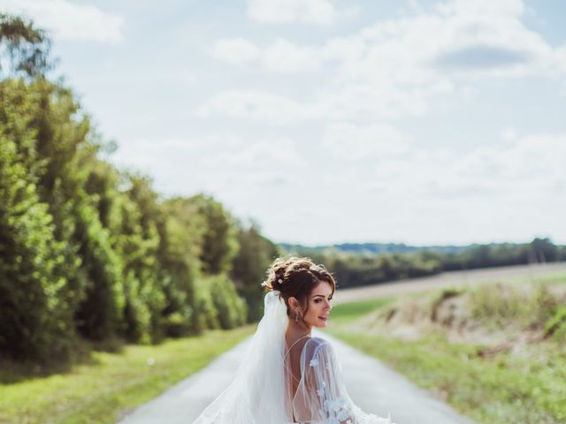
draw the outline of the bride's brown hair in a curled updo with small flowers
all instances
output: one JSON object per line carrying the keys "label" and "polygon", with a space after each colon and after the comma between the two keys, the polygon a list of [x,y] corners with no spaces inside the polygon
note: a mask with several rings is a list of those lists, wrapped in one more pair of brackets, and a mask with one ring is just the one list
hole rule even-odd
{"label": "bride's brown hair in a curled updo with small flowers", "polygon": [[289,298],[293,297],[302,304],[304,308],[302,317],[304,318],[304,314],[309,310],[308,298],[318,283],[325,281],[330,284],[333,289],[331,296],[337,285],[334,277],[324,265],[317,265],[308,257],[277,258],[267,269],[266,274],[264,286],[268,291],[281,292],[279,296],[285,300],[287,316],[291,316]]}

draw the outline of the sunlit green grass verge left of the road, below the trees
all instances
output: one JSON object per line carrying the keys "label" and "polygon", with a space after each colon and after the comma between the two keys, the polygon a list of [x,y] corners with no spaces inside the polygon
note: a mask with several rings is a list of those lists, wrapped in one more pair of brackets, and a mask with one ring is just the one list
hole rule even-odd
{"label": "sunlit green grass verge left of the road, below the trees", "polygon": [[127,345],[120,353],[94,352],[92,363],[68,373],[0,385],[0,422],[114,423],[255,329],[249,325],[161,345]]}

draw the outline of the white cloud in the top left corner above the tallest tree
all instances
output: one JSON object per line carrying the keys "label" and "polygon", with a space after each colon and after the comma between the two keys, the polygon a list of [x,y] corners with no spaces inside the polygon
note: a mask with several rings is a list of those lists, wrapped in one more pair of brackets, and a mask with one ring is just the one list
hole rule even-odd
{"label": "white cloud in the top left corner above the tallest tree", "polygon": [[124,19],[90,4],[68,0],[0,0],[0,8],[34,19],[36,27],[52,31],[59,40],[119,42]]}

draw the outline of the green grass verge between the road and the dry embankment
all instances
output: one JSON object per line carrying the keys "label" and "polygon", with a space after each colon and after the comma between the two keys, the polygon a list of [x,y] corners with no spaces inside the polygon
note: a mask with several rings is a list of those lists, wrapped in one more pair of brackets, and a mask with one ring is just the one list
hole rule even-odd
{"label": "green grass verge between the road and the dry embankment", "polygon": [[440,330],[408,341],[376,331],[363,322],[364,315],[391,300],[337,306],[328,331],[382,360],[478,422],[566,422],[564,345],[546,341],[527,345],[518,354],[499,352],[485,357],[480,354],[485,345],[450,343]]}

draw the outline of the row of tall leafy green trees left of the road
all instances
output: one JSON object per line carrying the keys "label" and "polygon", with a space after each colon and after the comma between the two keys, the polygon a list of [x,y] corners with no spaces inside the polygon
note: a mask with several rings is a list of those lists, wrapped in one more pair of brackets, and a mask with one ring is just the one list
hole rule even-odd
{"label": "row of tall leafy green trees left of the road", "polygon": [[0,15],[0,359],[255,320],[276,246],[210,196],[164,199],[111,165],[73,91],[46,76],[49,50]]}

